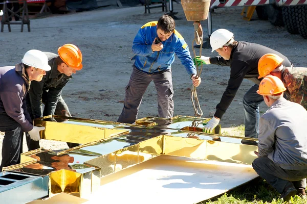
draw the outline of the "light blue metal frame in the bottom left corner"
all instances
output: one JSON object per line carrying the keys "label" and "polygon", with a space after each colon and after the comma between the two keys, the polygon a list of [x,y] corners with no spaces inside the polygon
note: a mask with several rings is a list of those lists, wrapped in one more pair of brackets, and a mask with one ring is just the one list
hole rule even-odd
{"label": "light blue metal frame in the bottom left corner", "polygon": [[48,180],[49,176],[1,172],[0,202],[19,204],[48,196]]}

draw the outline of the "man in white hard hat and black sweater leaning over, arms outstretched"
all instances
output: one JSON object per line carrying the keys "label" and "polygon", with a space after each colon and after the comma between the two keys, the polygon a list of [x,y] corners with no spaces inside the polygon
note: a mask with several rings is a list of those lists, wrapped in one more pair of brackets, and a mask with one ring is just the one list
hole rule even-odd
{"label": "man in white hard hat and black sweater leaning over, arms outstretched", "polygon": [[235,41],[233,33],[226,29],[214,31],[210,36],[210,44],[212,53],[215,50],[220,56],[199,56],[193,59],[194,63],[230,66],[230,78],[221,101],[216,106],[214,117],[205,125],[204,130],[210,133],[214,129],[230,106],[243,79],[248,79],[255,84],[243,97],[245,137],[258,138],[258,105],[264,100],[256,93],[262,80],[262,78],[258,79],[258,61],[263,55],[273,53],[283,59],[283,66],[290,67],[291,62],[287,57],[269,47],[244,41]]}

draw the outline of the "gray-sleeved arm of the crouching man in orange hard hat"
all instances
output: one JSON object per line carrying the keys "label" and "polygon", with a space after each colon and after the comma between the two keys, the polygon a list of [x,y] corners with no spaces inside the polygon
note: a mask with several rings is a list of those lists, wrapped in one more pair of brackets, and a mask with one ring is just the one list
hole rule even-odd
{"label": "gray-sleeved arm of the crouching man in orange hard hat", "polygon": [[258,136],[258,157],[267,157],[273,150],[275,143],[275,129],[270,120],[260,117],[259,119],[259,136]]}

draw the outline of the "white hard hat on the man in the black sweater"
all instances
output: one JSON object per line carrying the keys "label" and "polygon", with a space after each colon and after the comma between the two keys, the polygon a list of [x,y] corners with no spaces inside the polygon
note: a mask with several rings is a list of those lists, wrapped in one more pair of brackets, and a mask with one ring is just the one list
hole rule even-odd
{"label": "white hard hat on the man in the black sweater", "polygon": [[223,47],[231,38],[233,38],[233,33],[226,29],[214,31],[210,36],[210,45],[212,47],[211,53],[213,53],[215,49]]}

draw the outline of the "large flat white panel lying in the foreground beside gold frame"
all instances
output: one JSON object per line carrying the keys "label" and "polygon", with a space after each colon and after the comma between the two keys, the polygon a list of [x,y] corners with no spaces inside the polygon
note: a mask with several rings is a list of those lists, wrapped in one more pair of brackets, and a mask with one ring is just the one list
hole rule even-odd
{"label": "large flat white panel lying in the foreground beside gold frame", "polygon": [[85,197],[84,204],[109,203],[110,198],[116,203],[198,203],[257,176],[250,165],[160,156],[103,177],[100,193]]}

